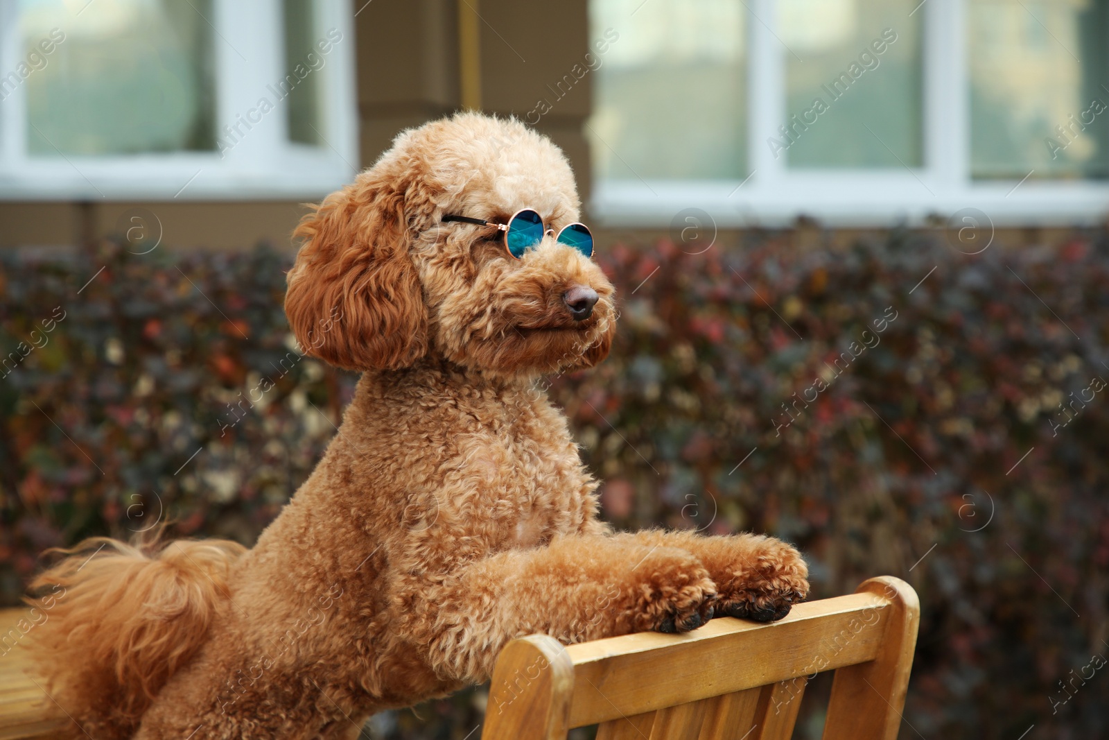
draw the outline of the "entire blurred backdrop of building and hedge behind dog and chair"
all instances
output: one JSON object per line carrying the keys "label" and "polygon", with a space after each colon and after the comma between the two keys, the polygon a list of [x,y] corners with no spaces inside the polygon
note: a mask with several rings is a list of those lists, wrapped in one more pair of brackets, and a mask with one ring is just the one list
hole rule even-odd
{"label": "entire blurred backdrop of building and hedge behind dog and chair", "polygon": [[[603,516],[784,537],[817,598],[908,580],[901,737],[1105,737],[1107,24],[1102,0],[0,0],[0,605],[91,535],[254,541],[355,382],[282,312],[302,204],[479,109],[563,148],[620,291],[609,361],[551,387]],[[485,697],[364,737],[461,740]]]}

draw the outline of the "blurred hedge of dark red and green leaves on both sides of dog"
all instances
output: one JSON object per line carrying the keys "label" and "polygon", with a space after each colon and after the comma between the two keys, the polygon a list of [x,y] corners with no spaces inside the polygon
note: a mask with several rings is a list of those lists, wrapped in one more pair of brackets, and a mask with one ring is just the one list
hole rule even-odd
{"label": "blurred hedge of dark red and green leaves on both sides of dog", "polygon": [[[604,516],[785,537],[816,598],[909,580],[902,737],[1105,737],[1109,678],[1071,671],[1109,652],[1109,234],[974,256],[930,232],[804,253],[788,233],[744,239],[598,255],[618,341],[551,393]],[[18,356],[0,368],[4,602],[49,546],[159,517],[250,544],[277,514],[354,382],[294,352],[288,263],[0,255],[0,351]],[[480,704],[389,712],[373,737],[461,738]]]}

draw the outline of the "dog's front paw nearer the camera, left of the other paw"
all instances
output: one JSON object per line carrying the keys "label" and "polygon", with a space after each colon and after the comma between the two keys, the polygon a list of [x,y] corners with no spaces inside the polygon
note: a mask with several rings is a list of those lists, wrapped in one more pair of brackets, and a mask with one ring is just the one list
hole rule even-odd
{"label": "dog's front paw nearer the camera, left of the other paw", "polygon": [[712,619],[716,585],[693,554],[657,547],[632,574],[633,631],[686,632]]}

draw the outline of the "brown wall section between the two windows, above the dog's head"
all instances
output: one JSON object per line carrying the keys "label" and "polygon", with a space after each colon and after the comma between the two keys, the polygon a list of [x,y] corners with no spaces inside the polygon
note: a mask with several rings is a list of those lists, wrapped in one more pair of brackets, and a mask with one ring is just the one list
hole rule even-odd
{"label": "brown wall section between the two windows, above the dog's head", "polygon": [[582,126],[590,110],[591,80],[587,74],[576,81],[561,99],[551,89],[588,51],[587,0],[465,4],[413,0],[366,6],[357,19],[363,163],[372,164],[401,129],[460,107],[460,4],[476,8],[480,16],[481,109],[526,119],[540,99],[549,100],[551,110],[536,128],[566,151],[584,200],[589,150]]}

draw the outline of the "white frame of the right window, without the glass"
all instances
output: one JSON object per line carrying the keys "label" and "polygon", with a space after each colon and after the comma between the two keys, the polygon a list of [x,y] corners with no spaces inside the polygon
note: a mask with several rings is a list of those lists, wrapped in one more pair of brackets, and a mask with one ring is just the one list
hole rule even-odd
{"label": "white frame of the right window, without the glass", "polygon": [[[779,226],[798,216],[827,225],[922,225],[966,207],[995,226],[1093,225],[1109,213],[1109,183],[975,181],[970,178],[970,108],[966,0],[925,0],[923,13],[924,166],[805,170],[787,168],[766,144],[787,122],[785,54],[776,38],[774,0],[747,7],[747,148],[744,181],[599,180],[591,209],[603,225],[669,226],[700,207],[718,227]],[[691,122],[695,125],[695,122]]]}

